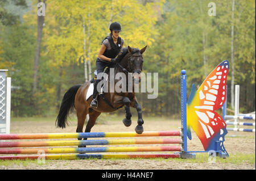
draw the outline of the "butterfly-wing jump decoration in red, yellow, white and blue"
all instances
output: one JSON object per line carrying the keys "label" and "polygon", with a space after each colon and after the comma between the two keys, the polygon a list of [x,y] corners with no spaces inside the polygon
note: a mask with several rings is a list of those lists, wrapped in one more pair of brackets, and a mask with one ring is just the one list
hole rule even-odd
{"label": "butterfly-wing jump decoration in red, yellow, white and blue", "polygon": [[226,123],[215,112],[226,100],[226,79],[229,62],[221,62],[204,80],[199,89],[192,85],[187,102],[187,135],[191,140],[191,127],[205,150],[216,150],[215,141],[220,141],[220,150],[228,155],[225,147]]}

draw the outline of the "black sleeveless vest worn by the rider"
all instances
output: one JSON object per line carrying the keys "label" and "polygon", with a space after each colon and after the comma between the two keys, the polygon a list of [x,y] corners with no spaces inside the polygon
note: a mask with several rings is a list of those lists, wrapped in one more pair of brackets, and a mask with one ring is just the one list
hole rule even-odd
{"label": "black sleeveless vest worn by the rider", "polygon": [[105,39],[109,40],[111,49],[109,49],[109,50],[106,49],[105,52],[103,53],[103,55],[105,57],[108,57],[108,58],[115,58],[118,55],[118,53],[120,52],[121,48],[122,48],[122,45],[121,45],[121,40],[122,39],[121,39],[121,37],[118,36],[117,45],[114,43],[112,36],[107,36],[107,37],[105,37]]}

